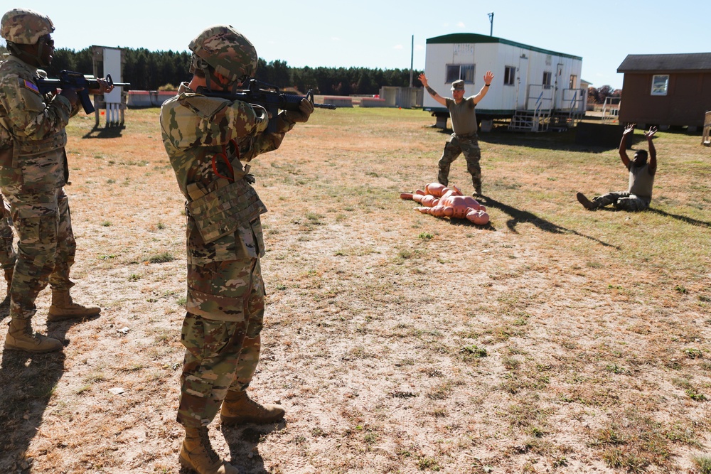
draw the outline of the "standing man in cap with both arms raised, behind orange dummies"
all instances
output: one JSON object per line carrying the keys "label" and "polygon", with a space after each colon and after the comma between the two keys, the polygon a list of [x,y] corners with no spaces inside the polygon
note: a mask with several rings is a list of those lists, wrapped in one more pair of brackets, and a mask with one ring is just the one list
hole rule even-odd
{"label": "standing man in cap with both arms raised, behind orange dummies", "polygon": [[440,104],[447,107],[451,118],[451,134],[447,143],[444,144],[442,158],[439,158],[439,173],[437,181],[440,184],[449,184],[449,167],[452,161],[456,160],[461,153],[466,159],[466,171],[471,174],[471,183],[474,185],[474,196],[481,197],[481,149],[479,148],[479,137],[476,135],[478,124],[476,122],[476,112],[474,107],[484,98],[493,80],[491,71],[486,71],[484,75],[484,85],[479,90],[479,94],[464,98],[464,81],[456,80],[451,83],[452,98],[442,97],[437,91],[429,87],[427,76],[424,72],[419,75],[419,81],[427,89],[429,95]]}

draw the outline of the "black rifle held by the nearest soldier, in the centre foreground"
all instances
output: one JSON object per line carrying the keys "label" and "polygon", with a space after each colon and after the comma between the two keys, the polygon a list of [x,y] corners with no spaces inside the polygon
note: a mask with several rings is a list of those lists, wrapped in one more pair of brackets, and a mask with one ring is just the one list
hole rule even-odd
{"label": "black rifle held by the nearest soldier, in the centre foreground", "polygon": [[272,119],[269,119],[267,131],[274,133],[277,131],[277,114],[279,110],[289,110],[292,112],[299,111],[299,102],[301,99],[306,99],[314,105],[314,109],[331,109],[335,110],[336,106],[331,104],[314,104],[314,91],[309,90],[306,96],[296,94],[284,94],[279,91],[279,87],[261,82],[256,79],[250,79],[247,82],[247,89],[237,90],[235,93],[212,91],[207,87],[198,87],[196,92],[206,97],[219,97],[220,99],[228,99],[234,102],[241,100],[248,104],[257,104],[267,109]]}

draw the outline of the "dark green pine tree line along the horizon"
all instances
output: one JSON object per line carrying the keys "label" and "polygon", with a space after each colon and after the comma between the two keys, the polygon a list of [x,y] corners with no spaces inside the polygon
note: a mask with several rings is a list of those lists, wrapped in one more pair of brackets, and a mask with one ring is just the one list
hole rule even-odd
{"label": "dark green pine tree line along the horizon", "polygon": [[[176,90],[183,81],[191,80],[190,51],[149,51],[145,48],[126,48],[123,82],[130,82],[129,90]],[[93,74],[91,48],[79,51],[55,50],[52,64],[46,68],[49,77],[58,77],[60,70]],[[413,71],[413,77],[422,71]],[[103,71],[99,71],[103,75]],[[260,58],[257,80],[279,88],[294,87],[301,93],[314,90],[325,95],[375,95],[381,86],[407,87],[409,69],[370,68],[292,68],[286,61],[267,63]],[[415,81],[419,86],[419,82]]]}

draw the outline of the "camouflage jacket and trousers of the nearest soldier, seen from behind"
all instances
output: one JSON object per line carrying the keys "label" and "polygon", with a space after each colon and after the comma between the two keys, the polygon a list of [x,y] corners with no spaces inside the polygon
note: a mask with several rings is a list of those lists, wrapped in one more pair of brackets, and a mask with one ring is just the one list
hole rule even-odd
{"label": "camouflage jacket and trousers of the nearest soldier, seen from behind", "polygon": [[188,297],[181,342],[186,355],[178,422],[207,426],[228,394],[247,389],[260,354],[264,255],[249,166],[279,147],[294,124],[284,112],[277,132],[246,102],[198,95],[183,82],[161,108],[164,145],[187,199]]}

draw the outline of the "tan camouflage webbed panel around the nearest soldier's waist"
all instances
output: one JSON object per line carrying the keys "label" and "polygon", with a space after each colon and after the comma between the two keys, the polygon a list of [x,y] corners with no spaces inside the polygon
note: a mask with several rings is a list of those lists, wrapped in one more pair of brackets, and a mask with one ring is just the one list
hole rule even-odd
{"label": "tan camouflage webbed panel around the nearest soldier's waist", "polygon": [[247,179],[241,178],[201,198],[188,200],[186,210],[208,244],[235,232],[245,222],[255,220],[267,212],[267,206]]}

